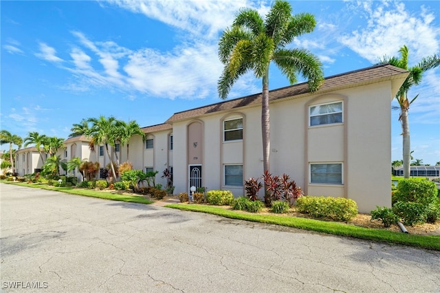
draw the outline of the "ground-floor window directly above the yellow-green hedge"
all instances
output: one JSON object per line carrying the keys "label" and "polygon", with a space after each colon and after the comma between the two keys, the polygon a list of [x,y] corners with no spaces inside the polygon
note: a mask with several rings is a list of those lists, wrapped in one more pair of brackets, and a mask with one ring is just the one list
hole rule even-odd
{"label": "ground-floor window directly above the yellow-green hedge", "polygon": [[342,184],[342,163],[310,164],[310,183]]}

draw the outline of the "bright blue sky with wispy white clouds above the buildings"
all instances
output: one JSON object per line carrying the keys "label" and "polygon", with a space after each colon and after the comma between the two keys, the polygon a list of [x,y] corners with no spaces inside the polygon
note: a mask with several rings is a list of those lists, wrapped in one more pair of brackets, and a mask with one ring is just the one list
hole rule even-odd
{"label": "bright blue sky with wispy white clouds above the buildings", "polygon": [[[315,15],[316,29],[292,46],[319,56],[325,76],[399,56],[439,54],[439,1],[291,1]],[[1,129],[67,138],[83,118],[115,116],[141,127],[219,102],[219,36],[243,7],[261,15],[271,1],[1,1]],[[410,91],[411,149],[440,161],[440,69]],[[270,70],[270,89],[288,80]],[[230,98],[261,91],[243,76]],[[393,105],[397,105],[393,102]],[[392,113],[392,159],[401,160],[399,111]],[[8,146],[1,146],[8,149]]]}

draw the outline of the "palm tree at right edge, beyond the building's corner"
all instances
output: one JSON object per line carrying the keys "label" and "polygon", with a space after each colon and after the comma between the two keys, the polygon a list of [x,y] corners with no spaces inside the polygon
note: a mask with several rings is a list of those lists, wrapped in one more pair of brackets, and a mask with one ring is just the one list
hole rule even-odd
{"label": "palm tree at right edge, beyond the building's corner", "polygon": [[410,177],[410,124],[408,119],[408,110],[410,105],[419,96],[415,96],[412,100],[408,100],[408,91],[413,85],[418,85],[421,82],[423,72],[429,69],[435,68],[440,65],[440,56],[434,54],[429,57],[422,58],[421,61],[414,67],[408,67],[408,47],[404,45],[399,50],[401,57],[384,57],[380,60],[380,63],[390,63],[393,66],[408,70],[409,75],[401,85],[399,91],[396,94],[396,100],[399,102],[400,116],[399,121],[401,124],[402,138],[403,138],[403,159],[404,159],[404,178]]}

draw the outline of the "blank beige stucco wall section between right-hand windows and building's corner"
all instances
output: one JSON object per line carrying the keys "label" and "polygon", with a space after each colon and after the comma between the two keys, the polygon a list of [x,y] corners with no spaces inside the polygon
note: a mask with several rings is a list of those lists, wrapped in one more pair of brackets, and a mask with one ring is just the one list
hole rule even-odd
{"label": "blank beige stucco wall section between right-hand windows and building's corner", "polygon": [[361,212],[391,206],[391,82],[351,89],[347,196]]}

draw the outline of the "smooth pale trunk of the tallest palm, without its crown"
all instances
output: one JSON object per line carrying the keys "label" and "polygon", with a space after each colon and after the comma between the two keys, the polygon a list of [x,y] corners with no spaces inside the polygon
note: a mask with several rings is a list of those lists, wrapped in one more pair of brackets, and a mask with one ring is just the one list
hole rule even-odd
{"label": "smooth pale trunk of the tallest palm, without its crown", "polygon": [[[270,172],[270,116],[269,116],[269,72],[263,76],[263,92],[261,93],[261,135],[263,138],[263,174]],[[270,205],[270,194],[265,190],[265,204]]]}

